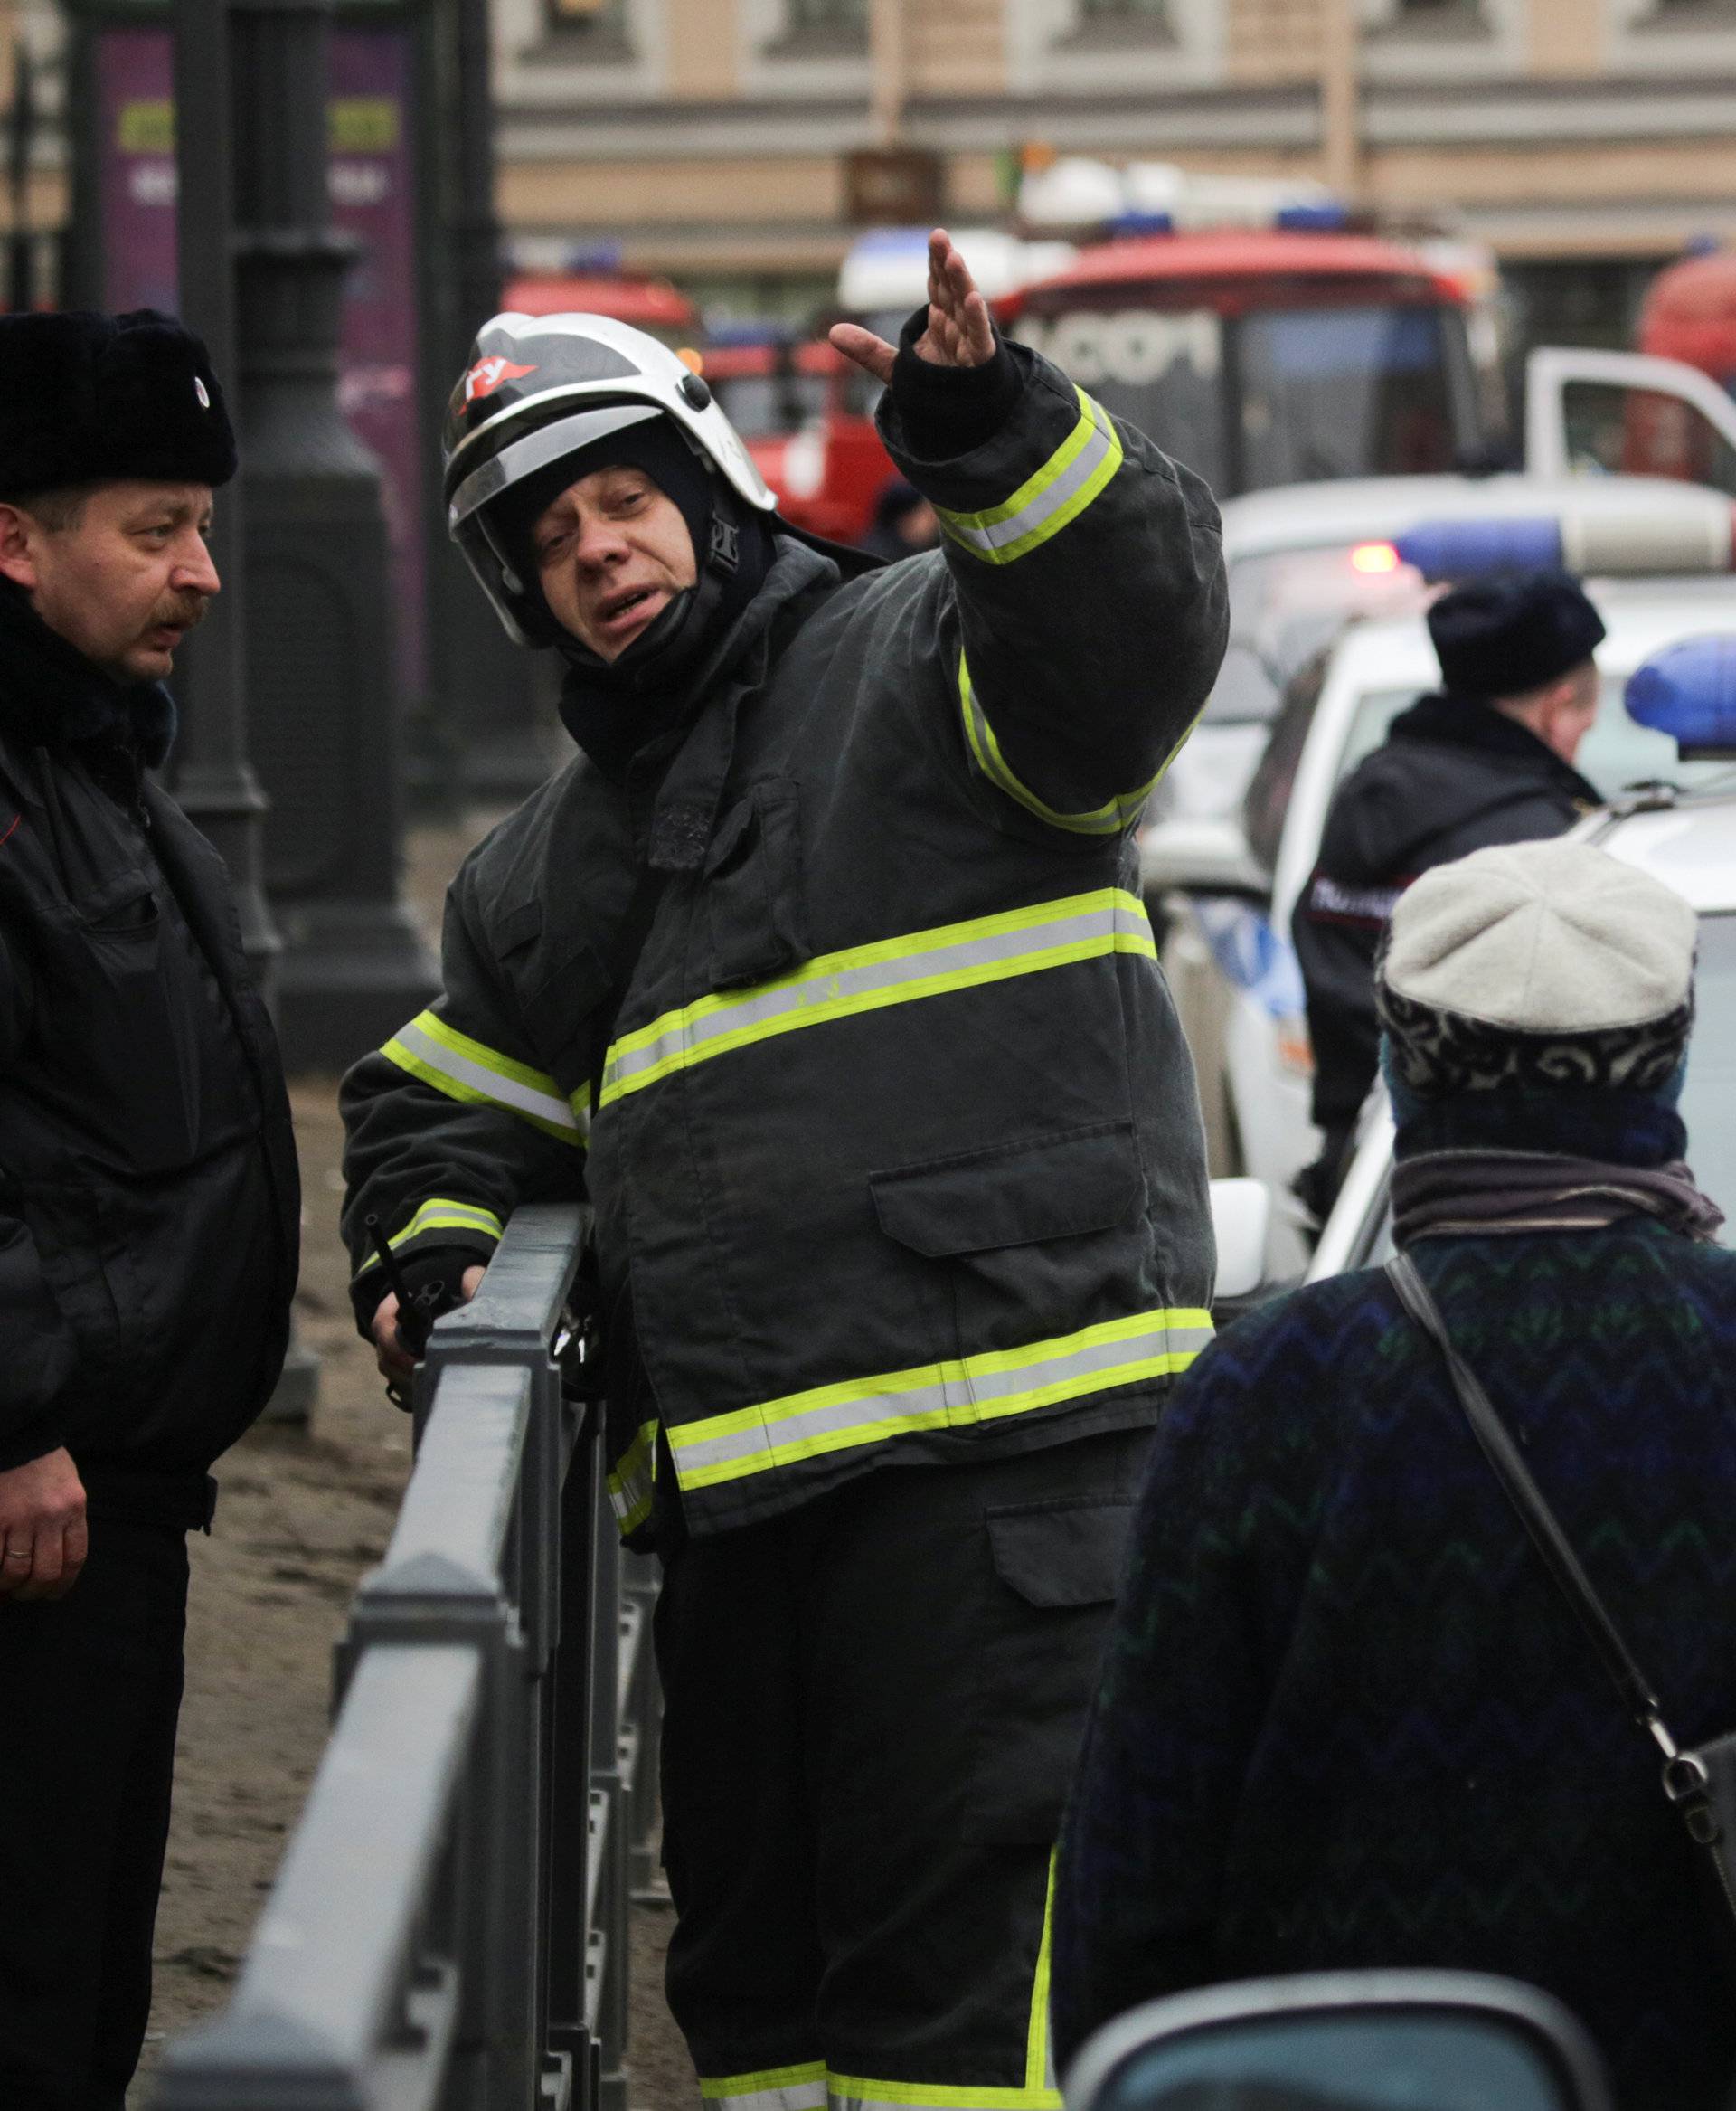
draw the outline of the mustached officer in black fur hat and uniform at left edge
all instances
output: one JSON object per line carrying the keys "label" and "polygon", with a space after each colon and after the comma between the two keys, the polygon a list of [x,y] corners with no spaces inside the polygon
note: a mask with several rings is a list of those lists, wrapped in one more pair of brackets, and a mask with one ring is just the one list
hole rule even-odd
{"label": "mustached officer in black fur hat and uniform at left edge", "polygon": [[300,1193],[228,876],[148,775],[234,439],[169,317],[0,319],[0,2105],[120,2111],[186,1533],[270,1395]]}

